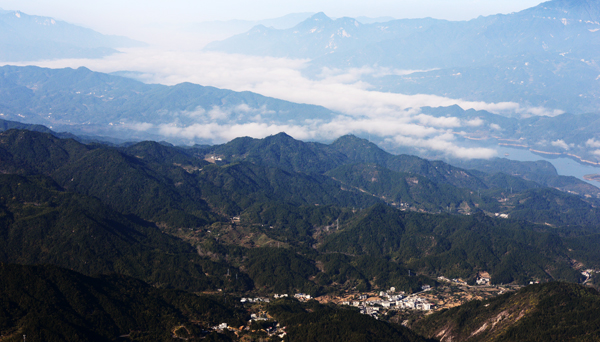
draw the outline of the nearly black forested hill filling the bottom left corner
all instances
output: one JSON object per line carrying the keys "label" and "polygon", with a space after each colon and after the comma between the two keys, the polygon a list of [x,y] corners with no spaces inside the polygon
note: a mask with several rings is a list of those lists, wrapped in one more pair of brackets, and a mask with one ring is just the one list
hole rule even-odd
{"label": "nearly black forested hill filling the bottom left corner", "polygon": [[55,266],[0,263],[0,297],[0,332],[9,341],[199,341],[215,338],[211,327],[238,327],[249,316],[225,298]]}

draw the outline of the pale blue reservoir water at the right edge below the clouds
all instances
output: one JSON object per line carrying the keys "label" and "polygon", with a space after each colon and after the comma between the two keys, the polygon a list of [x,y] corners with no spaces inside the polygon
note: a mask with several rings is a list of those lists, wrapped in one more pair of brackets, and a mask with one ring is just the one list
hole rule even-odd
{"label": "pale blue reservoir water at the right edge below the clouds", "polygon": [[[496,150],[498,151],[498,156],[501,158],[513,159],[513,160],[518,160],[518,161],[537,161],[537,160],[548,161],[548,162],[552,163],[552,165],[554,165],[554,167],[556,168],[556,171],[558,171],[559,175],[574,176],[574,177],[577,177],[583,181],[586,181],[586,182],[592,184],[593,186],[600,187],[600,182],[588,181],[588,180],[583,179],[583,176],[585,176],[585,175],[600,174],[600,167],[587,165],[587,164],[581,164],[581,163],[576,162],[573,159],[564,158],[564,157],[545,158],[541,155],[534,154],[533,152],[531,152],[529,150],[521,150],[521,149],[510,148],[510,147],[506,147],[506,146],[498,146]],[[505,153],[508,153],[508,156],[505,156],[504,155]]]}

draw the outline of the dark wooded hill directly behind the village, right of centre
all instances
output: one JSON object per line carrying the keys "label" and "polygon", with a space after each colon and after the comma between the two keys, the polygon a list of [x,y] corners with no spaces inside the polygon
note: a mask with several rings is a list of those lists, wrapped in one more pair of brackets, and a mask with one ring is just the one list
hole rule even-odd
{"label": "dark wooded hill directly behind the village, right of centre", "polygon": [[565,240],[557,232],[526,223],[480,214],[434,216],[376,205],[346,227],[329,235],[320,250],[387,256],[430,275],[469,279],[488,271],[494,283],[581,279],[571,267]]}

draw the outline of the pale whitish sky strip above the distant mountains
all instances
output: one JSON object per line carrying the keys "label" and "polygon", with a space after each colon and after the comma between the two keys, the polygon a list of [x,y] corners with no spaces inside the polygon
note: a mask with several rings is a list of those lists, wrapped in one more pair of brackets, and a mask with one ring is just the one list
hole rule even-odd
{"label": "pale whitish sky strip above the distant mountains", "polygon": [[517,12],[539,3],[540,0],[0,0],[0,8],[140,39],[144,30],[160,25],[260,20],[299,12],[325,12],[330,17],[469,20],[479,15]]}

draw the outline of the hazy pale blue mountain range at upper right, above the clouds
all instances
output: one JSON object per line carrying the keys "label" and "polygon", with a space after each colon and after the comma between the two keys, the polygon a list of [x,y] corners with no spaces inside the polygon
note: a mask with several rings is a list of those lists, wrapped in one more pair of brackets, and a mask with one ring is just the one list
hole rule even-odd
{"label": "hazy pale blue mountain range at upper right, above the clouds", "polygon": [[[513,101],[574,113],[600,105],[600,6],[554,0],[508,15],[450,22],[362,24],[318,13],[293,28],[256,26],[206,50],[310,58],[322,68],[386,68],[364,78],[382,91]],[[406,75],[406,70],[420,70]]]}

